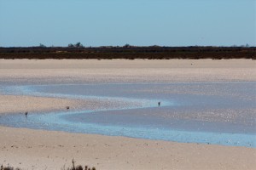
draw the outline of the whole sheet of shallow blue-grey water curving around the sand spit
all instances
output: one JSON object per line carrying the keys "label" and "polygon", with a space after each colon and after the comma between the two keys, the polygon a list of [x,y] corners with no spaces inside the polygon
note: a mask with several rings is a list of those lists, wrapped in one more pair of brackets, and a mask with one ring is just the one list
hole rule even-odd
{"label": "whole sheet of shallow blue-grey water curving around the sand spit", "polygon": [[254,82],[24,85],[1,91],[108,103],[96,111],[4,115],[4,126],[256,147]]}

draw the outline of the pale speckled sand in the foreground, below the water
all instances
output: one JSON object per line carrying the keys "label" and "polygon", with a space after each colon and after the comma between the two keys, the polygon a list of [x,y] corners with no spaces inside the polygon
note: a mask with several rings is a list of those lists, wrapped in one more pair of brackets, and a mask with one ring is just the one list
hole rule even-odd
{"label": "pale speckled sand in the foreground, below the water", "polygon": [[90,165],[96,169],[116,170],[253,169],[256,165],[256,149],[247,147],[175,143],[13,127],[0,127],[0,132],[0,161],[3,160],[5,166],[9,163],[11,166],[26,169],[71,167],[72,159],[77,164]]}

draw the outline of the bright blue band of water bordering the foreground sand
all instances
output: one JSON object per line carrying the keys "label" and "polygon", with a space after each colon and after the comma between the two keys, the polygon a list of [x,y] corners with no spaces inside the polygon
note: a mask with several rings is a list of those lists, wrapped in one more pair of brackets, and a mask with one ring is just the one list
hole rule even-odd
{"label": "bright blue band of water bordering the foreground sand", "polygon": [[124,136],[137,139],[165,140],[181,143],[221,144],[256,148],[256,136],[242,133],[214,133],[183,131],[166,127],[124,126],[98,123],[72,122],[73,114],[93,114],[94,111],[34,113],[27,118],[23,114],[2,116],[0,124],[8,127],[26,127],[69,133],[90,133],[108,136]]}

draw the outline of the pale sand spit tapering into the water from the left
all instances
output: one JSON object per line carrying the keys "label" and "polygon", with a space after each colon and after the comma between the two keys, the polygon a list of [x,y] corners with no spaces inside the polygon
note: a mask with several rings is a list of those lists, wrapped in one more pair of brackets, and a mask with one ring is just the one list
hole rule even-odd
{"label": "pale sand spit tapering into the water from the left", "polygon": [[[131,102],[130,102],[131,103]],[[51,111],[84,111],[100,110],[111,108],[122,108],[119,101],[106,101],[104,99],[61,99],[33,97],[26,95],[1,95],[0,93],[0,115],[9,113],[26,113],[26,112],[51,112]]]}

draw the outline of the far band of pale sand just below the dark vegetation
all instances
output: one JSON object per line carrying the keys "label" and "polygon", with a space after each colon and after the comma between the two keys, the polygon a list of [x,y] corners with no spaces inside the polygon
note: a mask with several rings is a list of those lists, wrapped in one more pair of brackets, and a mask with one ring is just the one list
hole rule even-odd
{"label": "far band of pale sand just below the dark vegetation", "polygon": [[0,59],[0,82],[252,82],[255,66],[251,59]]}

